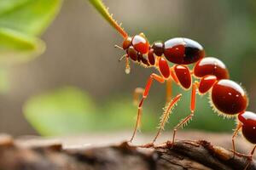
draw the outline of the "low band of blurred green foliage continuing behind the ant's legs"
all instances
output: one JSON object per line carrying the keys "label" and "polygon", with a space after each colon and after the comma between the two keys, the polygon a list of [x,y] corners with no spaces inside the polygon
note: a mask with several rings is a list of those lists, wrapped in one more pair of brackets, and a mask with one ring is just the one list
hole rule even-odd
{"label": "low band of blurred green foliage continuing behind the ant's legs", "polygon": [[[170,116],[166,129],[174,127],[178,121],[189,115],[189,93],[183,93],[183,99]],[[104,104],[94,102],[90,95],[79,88],[66,87],[39,94],[26,102],[24,113],[26,119],[42,135],[67,135],[93,131],[131,129],[137,116],[137,106],[132,105],[131,98],[115,96]],[[146,102],[147,103],[147,102]],[[197,104],[195,121],[191,128],[227,131],[234,126],[233,121],[226,121],[207,105],[207,99],[200,99]],[[164,105],[162,105],[163,107]],[[184,107],[186,106],[186,107]],[[158,127],[161,108],[145,105],[143,109],[143,131],[155,131]],[[225,126],[218,126],[223,124]]]}

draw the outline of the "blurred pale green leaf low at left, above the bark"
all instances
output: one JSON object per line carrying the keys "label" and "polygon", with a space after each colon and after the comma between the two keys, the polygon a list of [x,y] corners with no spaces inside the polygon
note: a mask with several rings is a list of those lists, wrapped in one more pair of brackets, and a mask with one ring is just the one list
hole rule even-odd
{"label": "blurred pale green leaf low at left, above the bark", "polygon": [[60,88],[32,97],[24,113],[28,122],[43,135],[82,133],[92,127],[95,105],[78,88]]}

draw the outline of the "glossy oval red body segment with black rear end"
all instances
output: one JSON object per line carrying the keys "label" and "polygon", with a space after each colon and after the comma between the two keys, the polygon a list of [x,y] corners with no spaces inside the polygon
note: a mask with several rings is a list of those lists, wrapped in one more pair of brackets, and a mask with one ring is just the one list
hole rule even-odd
{"label": "glossy oval red body segment with black rear end", "polygon": [[205,55],[200,43],[189,38],[176,37],[164,43],[164,55],[167,60],[178,65],[189,65]]}

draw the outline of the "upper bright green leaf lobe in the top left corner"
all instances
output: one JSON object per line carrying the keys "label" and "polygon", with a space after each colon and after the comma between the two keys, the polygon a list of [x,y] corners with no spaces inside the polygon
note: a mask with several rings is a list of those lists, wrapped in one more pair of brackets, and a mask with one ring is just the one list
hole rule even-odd
{"label": "upper bright green leaf lobe in the top left corner", "polygon": [[61,0],[1,1],[0,26],[36,36],[49,26],[60,7]]}

